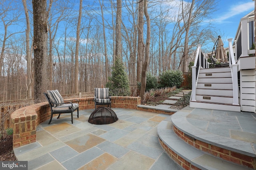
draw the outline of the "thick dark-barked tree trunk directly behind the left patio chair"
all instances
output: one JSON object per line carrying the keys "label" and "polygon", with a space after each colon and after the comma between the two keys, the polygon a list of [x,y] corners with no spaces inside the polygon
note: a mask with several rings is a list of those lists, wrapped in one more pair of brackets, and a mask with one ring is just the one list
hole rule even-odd
{"label": "thick dark-barked tree trunk directly behind the left patio chair", "polygon": [[34,18],[34,102],[44,101],[47,90],[47,0],[32,0]]}

